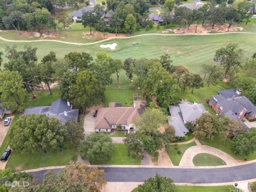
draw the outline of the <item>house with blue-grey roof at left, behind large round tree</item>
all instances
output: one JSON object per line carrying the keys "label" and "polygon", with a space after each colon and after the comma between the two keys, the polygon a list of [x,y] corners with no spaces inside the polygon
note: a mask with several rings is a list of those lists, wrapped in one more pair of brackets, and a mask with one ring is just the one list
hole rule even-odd
{"label": "house with blue-grey roof at left, behind large round tree", "polygon": [[24,115],[45,114],[47,117],[60,119],[61,123],[75,121],[78,119],[79,109],[72,109],[70,102],[62,98],[54,101],[51,106],[29,107],[24,110]]}

